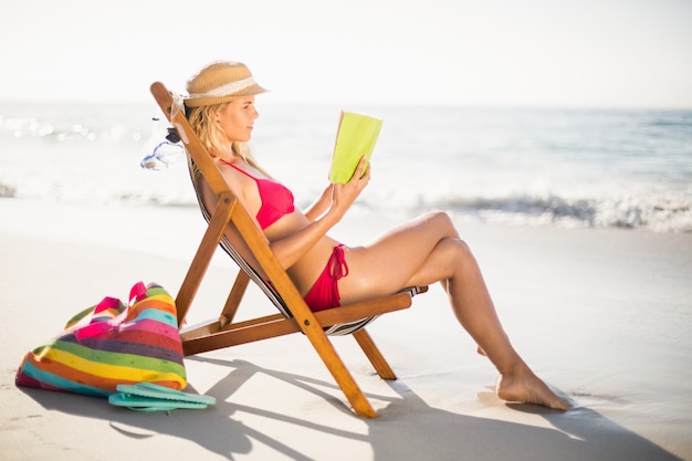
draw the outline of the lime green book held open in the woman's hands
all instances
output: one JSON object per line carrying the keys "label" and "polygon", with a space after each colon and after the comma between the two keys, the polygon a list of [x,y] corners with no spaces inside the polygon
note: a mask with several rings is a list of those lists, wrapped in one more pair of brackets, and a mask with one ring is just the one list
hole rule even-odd
{"label": "lime green book held open in the woman's hands", "polygon": [[370,161],[381,127],[380,118],[342,111],[329,168],[331,182],[348,182],[363,156]]}

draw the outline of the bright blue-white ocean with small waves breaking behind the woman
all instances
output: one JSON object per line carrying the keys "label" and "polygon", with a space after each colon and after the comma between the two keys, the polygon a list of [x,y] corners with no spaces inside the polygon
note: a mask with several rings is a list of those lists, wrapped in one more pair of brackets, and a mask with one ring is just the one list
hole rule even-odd
{"label": "bright blue-white ocean with small waves breaking behind the woman", "polygon": [[[339,109],[384,119],[353,212],[692,232],[692,111],[263,105],[255,157],[298,206],[327,184]],[[151,104],[0,102],[0,197],[196,207],[182,155],[146,169]]]}

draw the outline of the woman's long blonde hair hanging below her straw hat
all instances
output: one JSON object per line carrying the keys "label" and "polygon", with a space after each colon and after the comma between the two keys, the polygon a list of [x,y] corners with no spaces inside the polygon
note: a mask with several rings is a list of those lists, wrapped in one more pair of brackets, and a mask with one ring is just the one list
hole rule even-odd
{"label": "woman's long blonde hair hanging below her straw hat", "polygon": [[242,158],[252,168],[262,171],[269,176],[262,167],[260,167],[252,155],[252,145],[242,142],[229,142],[226,138],[223,129],[214,122],[213,115],[218,111],[222,111],[230,102],[212,104],[209,106],[186,107],[186,115],[195,134],[202,142],[207,150],[212,154],[214,161],[222,158]]}

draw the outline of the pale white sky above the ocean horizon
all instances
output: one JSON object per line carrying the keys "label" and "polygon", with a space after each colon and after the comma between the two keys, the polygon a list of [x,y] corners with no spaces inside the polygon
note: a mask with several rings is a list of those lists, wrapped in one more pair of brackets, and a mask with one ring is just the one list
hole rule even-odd
{"label": "pale white sky above the ocean horizon", "polygon": [[241,61],[291,103],[692,108],[692,0],[3,0],[0,101],[150,101]]}

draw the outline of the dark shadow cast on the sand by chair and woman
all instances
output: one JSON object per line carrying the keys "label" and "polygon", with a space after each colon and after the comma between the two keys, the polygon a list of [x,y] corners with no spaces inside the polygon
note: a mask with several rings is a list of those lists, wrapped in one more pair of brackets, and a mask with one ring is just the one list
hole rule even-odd
{"label": "dark shadow cast on the sand by chair and woman", "polygon": [[[146,439],[156,434],[193,441],[203,449],[233,459],[233,453],[250,453],[253,440],[281,453],[286,459],[310,460],[301,453],[300,446],[281,442],[234,419],[235,413],[251,413],[274,422],[308,428],[345,440],[356,440],[371,447],[374,460],[429,459],[442,460],[497,460],[513,461],[562,460],[583,461],[608,459],[611,461],[680,461],[647,439],[610,421],[596,411],[576,407],[567,412],[543,409],[536,406],[512,405],[516,411],[541,415],[555,429],[495,419],[459,415],[430,407],[402,381],[387,381],[398,398],[374,396],[387,402],[379,410],[379,418],[363,419],[367,433],[352,432],[319,421],[302,419],[274,411],[233,404],[231,397],[258,374],[270,376],[289,385],[297,386],[324,399],[335,410],[358,418],[345,402],[322,388],[335,389],[336,385],[285,371],[262,368],[238,359],[219,359],[205,356],[188,357],[210,365],[229,368],[230,373],[206,394],[217,398],[217,405],[205,411],[200,423],[199,411],[179,410],[169,415],[124,411],[103,405],[103,399],[70,396],[60,392],[24,389],[46,409],[59,410],[109,421],[113,430],[132,439]],[[192,391],[190,387],[186,389]],[[90,400],[88,405],[74,405],[71,398]],[[213,430],[210,430],[213,428]],[[222,434],[222,437],[220,437]],[[305,442],[303,442],[305,443]]]}

